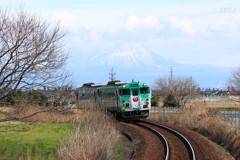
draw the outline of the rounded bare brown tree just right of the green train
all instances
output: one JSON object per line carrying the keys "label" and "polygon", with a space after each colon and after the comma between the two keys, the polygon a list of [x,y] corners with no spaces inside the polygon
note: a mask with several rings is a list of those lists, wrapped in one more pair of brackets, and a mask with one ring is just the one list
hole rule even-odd
{"label": "rounded bare brown tree just right of the green train", "polygon": [[167,97],[169,94],[173,95],[177,102],[183,101],[186,104],[191,98],[199,95],[199,88],[196,82],[190,77],[175,78],[160,77],[156,80],[154,89],[162,97]]}

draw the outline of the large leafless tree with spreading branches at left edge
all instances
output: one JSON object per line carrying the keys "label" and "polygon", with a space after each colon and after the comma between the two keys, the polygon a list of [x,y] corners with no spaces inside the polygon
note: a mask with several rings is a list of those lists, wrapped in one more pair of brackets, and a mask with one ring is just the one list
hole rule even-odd
{"label": "large leafless tree with spreading branches at left edge", "polygon": [[60,22],[42,21],[20,8],[0,8],[0,101],[21,89],[50,87],[68,77]]}

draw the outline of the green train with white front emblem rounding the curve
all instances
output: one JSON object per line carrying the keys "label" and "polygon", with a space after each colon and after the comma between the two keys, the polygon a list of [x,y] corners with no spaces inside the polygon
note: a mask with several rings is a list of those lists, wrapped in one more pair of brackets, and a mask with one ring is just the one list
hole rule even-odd
{"label": "green train with white front emblem rounding the curve", "polygon": [[118,120],[145,119],[151,109],[150,85],[144,82],[84,83],[77,93],[79,103],[103,108]]}

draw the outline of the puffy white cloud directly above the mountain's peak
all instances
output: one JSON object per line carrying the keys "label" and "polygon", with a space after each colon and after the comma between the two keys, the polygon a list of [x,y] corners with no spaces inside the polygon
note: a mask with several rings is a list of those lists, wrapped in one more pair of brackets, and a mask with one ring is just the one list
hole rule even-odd
{"label": "puffy white cloud directly above the mountain's peak", "polygon": [[126,30],[133,30],[137,27],[153,28],[158,23],[158,18],[153,16],[147,16],[139,18],[136,15],[130,15],[126,21]]}

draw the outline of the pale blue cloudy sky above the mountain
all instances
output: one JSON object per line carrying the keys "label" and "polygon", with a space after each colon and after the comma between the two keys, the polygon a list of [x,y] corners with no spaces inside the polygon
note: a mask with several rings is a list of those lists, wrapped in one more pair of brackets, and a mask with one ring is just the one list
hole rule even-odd
{"label": "pale blue cloudy sky above the mountain", "polygon": [[139,43],[186,64],[240,65],[239,0],[0,0],[20,5],[67,29],[66,50],[94,50],[114,42]]}

